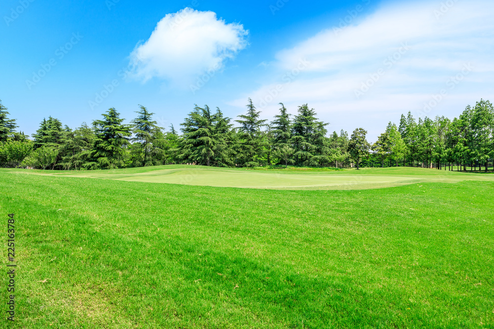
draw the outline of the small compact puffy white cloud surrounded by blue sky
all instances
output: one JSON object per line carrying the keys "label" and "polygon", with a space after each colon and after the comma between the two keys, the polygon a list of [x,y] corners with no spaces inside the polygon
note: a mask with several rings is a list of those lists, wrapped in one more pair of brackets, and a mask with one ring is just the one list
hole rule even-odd
{"label": "small compact puffy white cloud surrounded by blue sky", "polygon": [[247,34],[243,25],[227,24],[211,11],[185,8],[167,14],[151,37],[131,53],[131,63],[137,63],[133,75],[144,81],[159,77],[178,84],[206,72],[212,75],[246,47]]}

